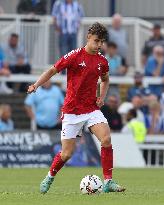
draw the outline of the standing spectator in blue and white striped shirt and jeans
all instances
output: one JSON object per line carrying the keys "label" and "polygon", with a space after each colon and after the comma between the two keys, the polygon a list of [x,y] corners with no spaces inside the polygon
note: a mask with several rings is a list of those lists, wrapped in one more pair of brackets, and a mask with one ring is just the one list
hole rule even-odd
{"label": "standing spectator in blue and white striped shirt and jeans", "polygon": [[63,56],[77,47],[77,32],[84,16],[83,7],[78,1],[58,0],[53,5],[52,16],[59,32],[60,56]]}

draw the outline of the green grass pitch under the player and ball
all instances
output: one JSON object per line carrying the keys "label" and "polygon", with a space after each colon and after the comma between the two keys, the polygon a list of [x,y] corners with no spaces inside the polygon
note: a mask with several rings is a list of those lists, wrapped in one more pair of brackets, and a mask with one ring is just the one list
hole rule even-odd
{"label": "green grass pitch under the player and ball", "polygon": [[163,205],[164,169],[115,169],[125,193],[81,195],[87,174],[102,177],[100,168],[64,168],[45,195],[39,193],[47,169],[0,169],[0,205]]}

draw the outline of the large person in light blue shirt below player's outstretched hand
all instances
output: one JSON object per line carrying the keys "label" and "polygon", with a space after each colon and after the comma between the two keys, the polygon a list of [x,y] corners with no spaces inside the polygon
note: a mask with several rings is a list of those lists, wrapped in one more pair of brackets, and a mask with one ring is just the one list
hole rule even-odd
{"label": "large person in light blue shirt below player's outstretched hand", "polygon": [[25,99],[25,108],[31,120],[35,120],[38,129],[61,128],[60,108],[64,96],[58,86],[47,81],[36,93]]}

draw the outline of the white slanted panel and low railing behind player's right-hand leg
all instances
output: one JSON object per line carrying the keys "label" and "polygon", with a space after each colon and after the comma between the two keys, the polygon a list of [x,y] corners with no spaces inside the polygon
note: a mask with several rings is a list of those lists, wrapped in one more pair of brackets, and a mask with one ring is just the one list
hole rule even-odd
{"label": "white slanted panel and low railing behind player's right-hand leg", "polygon": [[[99,154],[101,144],[92,135]],[[143,144],[136,144],[131,133],[111,133],[116,167],[164,167],[164,136],[147,135]]]}

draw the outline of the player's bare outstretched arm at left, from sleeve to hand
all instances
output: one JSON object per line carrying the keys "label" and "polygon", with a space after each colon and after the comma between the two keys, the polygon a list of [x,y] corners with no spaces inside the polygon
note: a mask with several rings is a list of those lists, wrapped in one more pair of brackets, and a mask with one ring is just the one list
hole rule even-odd
{"label": "player's bare outstretched arm at left, from sleeve to hand", "polygon": [[54,66],[52,66],[49,70],[42,73],[42,75],[34,84],[28,87],[27,93],[35,92],[39,86],[47,82],[56,73],[58,73],[57,69]]}

